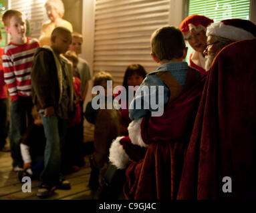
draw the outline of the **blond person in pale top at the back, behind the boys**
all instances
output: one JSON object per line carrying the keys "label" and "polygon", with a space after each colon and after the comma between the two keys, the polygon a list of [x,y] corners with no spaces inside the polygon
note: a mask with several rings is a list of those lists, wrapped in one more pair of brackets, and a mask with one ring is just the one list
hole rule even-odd
{"label": "blond person in pale top at the back, behind the boys", "polygon": [[39,37],[40,45],[51,45],[51,33],[55,27],[66,27],[73,32],[72,24],[62,19],[65,9],[61,0],[47,0],[45,9],[49,21],[46,21],[41,26],[41,35]]}

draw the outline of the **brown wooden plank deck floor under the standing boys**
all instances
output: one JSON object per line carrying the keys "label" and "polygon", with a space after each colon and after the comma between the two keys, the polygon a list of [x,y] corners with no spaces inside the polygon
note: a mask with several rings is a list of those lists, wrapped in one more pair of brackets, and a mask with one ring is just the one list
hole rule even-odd
{"label": "brown wooden plank deck floor under the standing boys", "polygon": [[[90,178],[90,163],[88,156],[85,156],[86,166],[80,171],[64,176],[72,184],[71,190],[55,190],[55,193],[48,200],[91,200],[92,193],[88,188]],[[22,192],[21,182],[17,173],[12,171],[11,152],[0,152],[0,200],[37,200],[39,180],[32,180],[31,192]]]}

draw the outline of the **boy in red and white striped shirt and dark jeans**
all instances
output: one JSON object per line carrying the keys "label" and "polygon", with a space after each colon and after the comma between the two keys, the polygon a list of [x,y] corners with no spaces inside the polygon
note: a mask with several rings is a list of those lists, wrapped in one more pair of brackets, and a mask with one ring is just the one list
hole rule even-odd
{"label": "boy in red and white striped shirt and dark jeans", "polygon": [[10,146],[13,170],[17,172],[23,167],[19,141],[27,128],[27,121],[28,124],[33,123],[30,73],[39,42],[25,36],[26,25],[21,12],[5,11],[3,24],[11,35],[11,41],[3,51],[3,71],[11,99]]}

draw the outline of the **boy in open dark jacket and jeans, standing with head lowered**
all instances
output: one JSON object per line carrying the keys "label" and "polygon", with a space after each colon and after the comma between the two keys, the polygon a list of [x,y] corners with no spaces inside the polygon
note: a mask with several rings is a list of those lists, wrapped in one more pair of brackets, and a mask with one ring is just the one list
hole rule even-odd
{"label": "boy in open dark jacket and jeans, standing with head lowered", "polygon": [[55,188],[70,189],[61,177],[61,148],[66,140],[68,119],[73,111],[72,63],[62,56],[72,34],[65,27],[51,33],[51,47],[37,49],[31,72],[33,102],[41,114],[46,137],[44,168],[37,196],[49,196]]}

